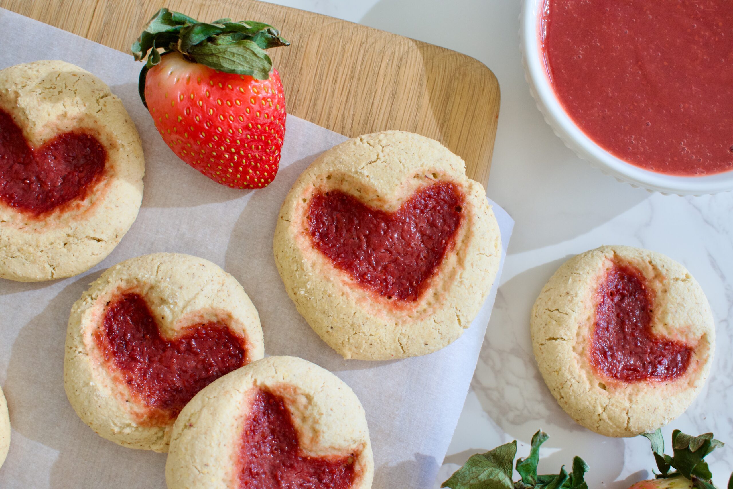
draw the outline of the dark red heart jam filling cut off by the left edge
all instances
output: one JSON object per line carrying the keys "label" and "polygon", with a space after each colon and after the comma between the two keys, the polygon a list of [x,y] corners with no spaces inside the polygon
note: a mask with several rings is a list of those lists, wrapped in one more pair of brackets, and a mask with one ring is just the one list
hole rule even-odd
{"label": "dark red heart jam filling cut off by the left edge", "polygon": [[0,199],[32,216],[84,199],[100,180],[107,152],[85,133],[62,133],[32,148],[0,110]]}

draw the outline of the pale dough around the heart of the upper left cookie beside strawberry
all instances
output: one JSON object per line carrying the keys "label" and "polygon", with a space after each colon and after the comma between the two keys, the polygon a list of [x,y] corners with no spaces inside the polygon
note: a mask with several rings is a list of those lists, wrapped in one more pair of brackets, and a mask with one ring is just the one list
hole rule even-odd
{"label": "pale dough around the heart of the upper left cookie beside strawberry", "polygon": [[142,145],[122,101],[80,67],[37,61],[0,71],[0,109],[32,147],[73,131],[95,136],[107,152],[84,199],[40,216],[0,199],[0,277],[36,282],[92,268],[130,229],[142,200]]}

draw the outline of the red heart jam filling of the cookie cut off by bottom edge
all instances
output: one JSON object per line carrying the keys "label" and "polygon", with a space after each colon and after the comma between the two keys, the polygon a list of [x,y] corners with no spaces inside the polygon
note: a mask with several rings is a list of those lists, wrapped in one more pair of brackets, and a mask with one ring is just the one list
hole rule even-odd
{"label": "red heart jam filling of the cookie cut off by bottom edge", "polygon": [[303,454],[282,397],[259,389],[242,431],[239,488],[346,489],[355,479],[355,459]]}

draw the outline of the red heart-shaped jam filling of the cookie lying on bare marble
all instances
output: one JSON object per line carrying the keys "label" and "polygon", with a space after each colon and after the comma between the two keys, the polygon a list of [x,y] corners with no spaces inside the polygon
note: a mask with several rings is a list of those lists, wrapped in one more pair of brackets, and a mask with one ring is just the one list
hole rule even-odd
{"label": "red heart-shaped jam filling of the cookie lying on bare marble", "polygon": [[652,298],[644,276],[614,265],[596,290],[591,363],[608,378],[673,380],[685,373],[693,350],[652,334]]}

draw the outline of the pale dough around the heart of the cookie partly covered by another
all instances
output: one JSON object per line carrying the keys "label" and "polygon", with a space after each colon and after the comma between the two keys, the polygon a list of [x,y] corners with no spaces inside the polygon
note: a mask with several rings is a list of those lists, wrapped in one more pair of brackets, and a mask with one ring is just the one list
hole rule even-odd
{"label": "pale dough around the heart of the cookie partly covered by another", "polygon": [[[122,446],[165,452],[174,419],[147,405],[106,359],[100,334],[109,304],[134,293],[147,303],[166,340],[187,326],[223,323],[243,339],[245,361],[264,355],[259,316],[242,286],[217,265],[187,254],[156,253],[125,260],[92,283],[71,309],[64,386],[78,416]],[[95,337],[97,334],[97,337]]]}

